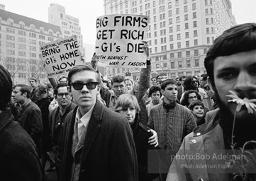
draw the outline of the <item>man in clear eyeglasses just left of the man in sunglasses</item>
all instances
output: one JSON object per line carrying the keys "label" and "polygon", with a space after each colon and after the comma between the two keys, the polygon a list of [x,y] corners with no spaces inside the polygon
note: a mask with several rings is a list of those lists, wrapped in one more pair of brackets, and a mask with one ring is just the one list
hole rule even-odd
{"label": "man in clear eyeglasses just left of the man in sunglasses", "polygon": [[52,136],[52,149],[55,153],[55,166],[57,176],[60,175],[60,153],[62,145],[62,127],[67,114],[74,110],[76,105],[72,103],[72,95],[69,93],[67,83],[58,83],[54,90],[54,98],[58,107],[49,113],[50,132]]}

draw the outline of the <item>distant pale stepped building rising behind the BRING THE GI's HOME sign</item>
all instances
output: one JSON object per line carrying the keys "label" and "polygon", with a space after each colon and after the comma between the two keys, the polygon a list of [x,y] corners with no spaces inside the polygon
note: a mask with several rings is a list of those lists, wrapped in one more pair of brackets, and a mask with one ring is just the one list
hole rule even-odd
{"label": "distant pale stepped building rising behind the BRING THE GI's HOME sign", "polygon": [[65,13],[64,6],[59,4],[50,4],[50,7],[48,8],[48,23],[60,26],[64,37],[76,35],[81,54],[85,54],[85,49],[83,47],[83,35],[81,34],[79,19],[67,15]]}

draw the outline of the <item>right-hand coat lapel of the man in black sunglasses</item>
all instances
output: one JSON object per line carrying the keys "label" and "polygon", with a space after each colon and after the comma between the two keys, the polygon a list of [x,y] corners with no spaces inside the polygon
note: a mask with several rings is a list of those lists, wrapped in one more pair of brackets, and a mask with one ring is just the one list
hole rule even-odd
{"label": "right-hand coat lapel of the man in black sunglasses", "polygon": [[98,100],[96,100],[94,110],[91,114],[91,118],[88,123],[87,134],[84,139],[81,165],[82,163],[84,163],[84,160],[91,149],[91,145],[94,143],[96,136],[99,133],[99,129],[101,128],[101,117],[102,117],[103,109],[104,109],[103,105],[99,103]]}

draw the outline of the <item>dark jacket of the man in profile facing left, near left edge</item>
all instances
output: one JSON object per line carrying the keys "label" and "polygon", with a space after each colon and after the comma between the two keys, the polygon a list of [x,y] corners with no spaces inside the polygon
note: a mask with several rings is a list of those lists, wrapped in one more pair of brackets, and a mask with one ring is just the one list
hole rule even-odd
{"label": "dark jacket of the man in profile facing left, near left edge", "polygon": [[28,103],[21,112],[21,126],[28,132],[35,142],[38,153],[42,153],[43,123],[42,113],[38,105],[33,102]]}

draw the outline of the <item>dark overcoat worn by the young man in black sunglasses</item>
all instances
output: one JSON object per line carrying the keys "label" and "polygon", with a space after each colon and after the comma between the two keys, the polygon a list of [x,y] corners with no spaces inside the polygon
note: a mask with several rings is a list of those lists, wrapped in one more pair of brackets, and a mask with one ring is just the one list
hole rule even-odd
{"label": "dark overcoat worn by the young man in black sunglasses", "polygon": [[[72,136],[77,107],[69,112],[63,127],[60,180],[70,180]],[[79,180],[138,180],[135,144],[124,117],[96,100],[88,123],[80,160]]]}

